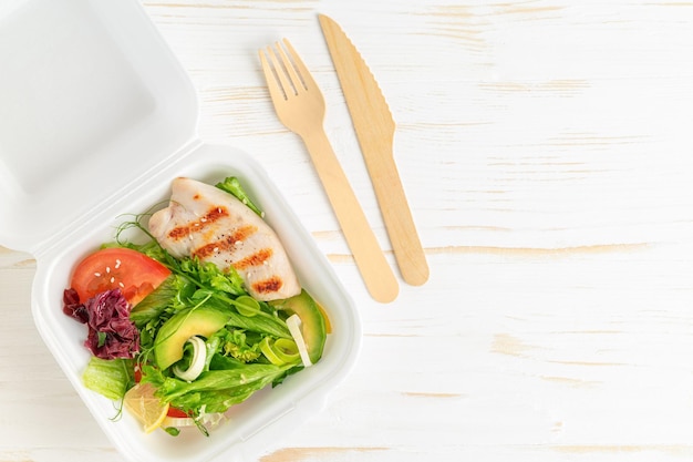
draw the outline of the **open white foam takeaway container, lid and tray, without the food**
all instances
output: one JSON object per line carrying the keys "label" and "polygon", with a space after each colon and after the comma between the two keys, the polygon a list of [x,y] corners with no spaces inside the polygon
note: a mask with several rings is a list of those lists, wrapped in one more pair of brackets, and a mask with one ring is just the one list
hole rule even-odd
{"label": "open white foam takeaway container, lid and tray, without the food", "polygon": [[[136,0],[10,0],[0,6],[0,244],[31,253],[38,330],[113,444],[132,461],[244,460],[317,412],[353,366],[361,327],[349,295],[268,176],[197,136],[195,91]],[[280,236],[332,333],[316,366],[197,430],[145,434],[85,389],[84,326],[62,312],[74,265],[112,240],[123,214],[167,201],[170,181],[238,176]]]}

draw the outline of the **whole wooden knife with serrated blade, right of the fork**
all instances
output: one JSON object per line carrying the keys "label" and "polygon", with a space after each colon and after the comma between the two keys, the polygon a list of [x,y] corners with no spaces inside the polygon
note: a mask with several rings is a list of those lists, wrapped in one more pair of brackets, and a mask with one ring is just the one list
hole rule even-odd
{"label": "whole wooden knife with serrated blade, right of the fork", "polygon": [[332,63],[365,161],[402,278],[428,280],[428,264],[394,161],[395,122],[381,89],[342,28],[319,14]]}

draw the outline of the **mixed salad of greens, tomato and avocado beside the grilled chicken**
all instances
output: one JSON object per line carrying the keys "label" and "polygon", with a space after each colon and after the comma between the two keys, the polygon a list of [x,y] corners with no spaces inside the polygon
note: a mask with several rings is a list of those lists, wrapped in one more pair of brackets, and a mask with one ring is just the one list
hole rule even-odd
{"label": "mixed salad of greens, tomato and avocado beside the grilled chicken", "polygon": [[[215,192],[199,191],[216,201],[239,202],[262,219],[235,177],[215,185]],[[174,206],[180,204],[172,196]],[[238,214],[227,215],[236,219]],[[113,242],[77,263],[63,311],[86,326],[91,357],[84,386],[118,403],[116,417],[124,409],[146,432],[162,428],[176,435],[194,425],[208,435],[234,404],[319,361],[329,320],[300,286],[286,298],[258,296],[249,289],[252,271],[237,270],[239,261],[224,267],[199,253],[179,255],[147,228],[152,216],[123,223]],[[200,220],[189,226],[205,225]],[[144,242],[123,238],[132,228]],[[205,239],[214,239],[209,229]],[[275,255],[283,253],[277,245],[270,248]],[[268,266],[256,261],[262,263]]]}

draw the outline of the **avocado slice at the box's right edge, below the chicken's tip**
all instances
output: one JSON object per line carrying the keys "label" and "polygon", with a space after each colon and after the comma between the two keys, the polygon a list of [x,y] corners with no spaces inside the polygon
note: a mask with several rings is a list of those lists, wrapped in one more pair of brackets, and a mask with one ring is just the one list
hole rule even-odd
{"label": "avocado slice at the box's right edge, below the chicken's tip", "polygon": [[287,311],[289,316],[298,315],[301,318],[301,333],[308,348],[308,356],[313,363],[318,362],[324,349],[327,328],[325,319],[316,300],[306,289],[302,289],[299,295],[283,300],[270,301],[270,305]]}

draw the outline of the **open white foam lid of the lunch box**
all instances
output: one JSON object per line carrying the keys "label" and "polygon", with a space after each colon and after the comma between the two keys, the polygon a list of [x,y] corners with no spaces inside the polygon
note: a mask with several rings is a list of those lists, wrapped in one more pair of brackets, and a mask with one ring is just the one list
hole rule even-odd
{"label": "open white foam lid of the lunch box", "polygon": [[195,90],[134,0],[0,6],[0,245],[35,255],[197,140]]}

